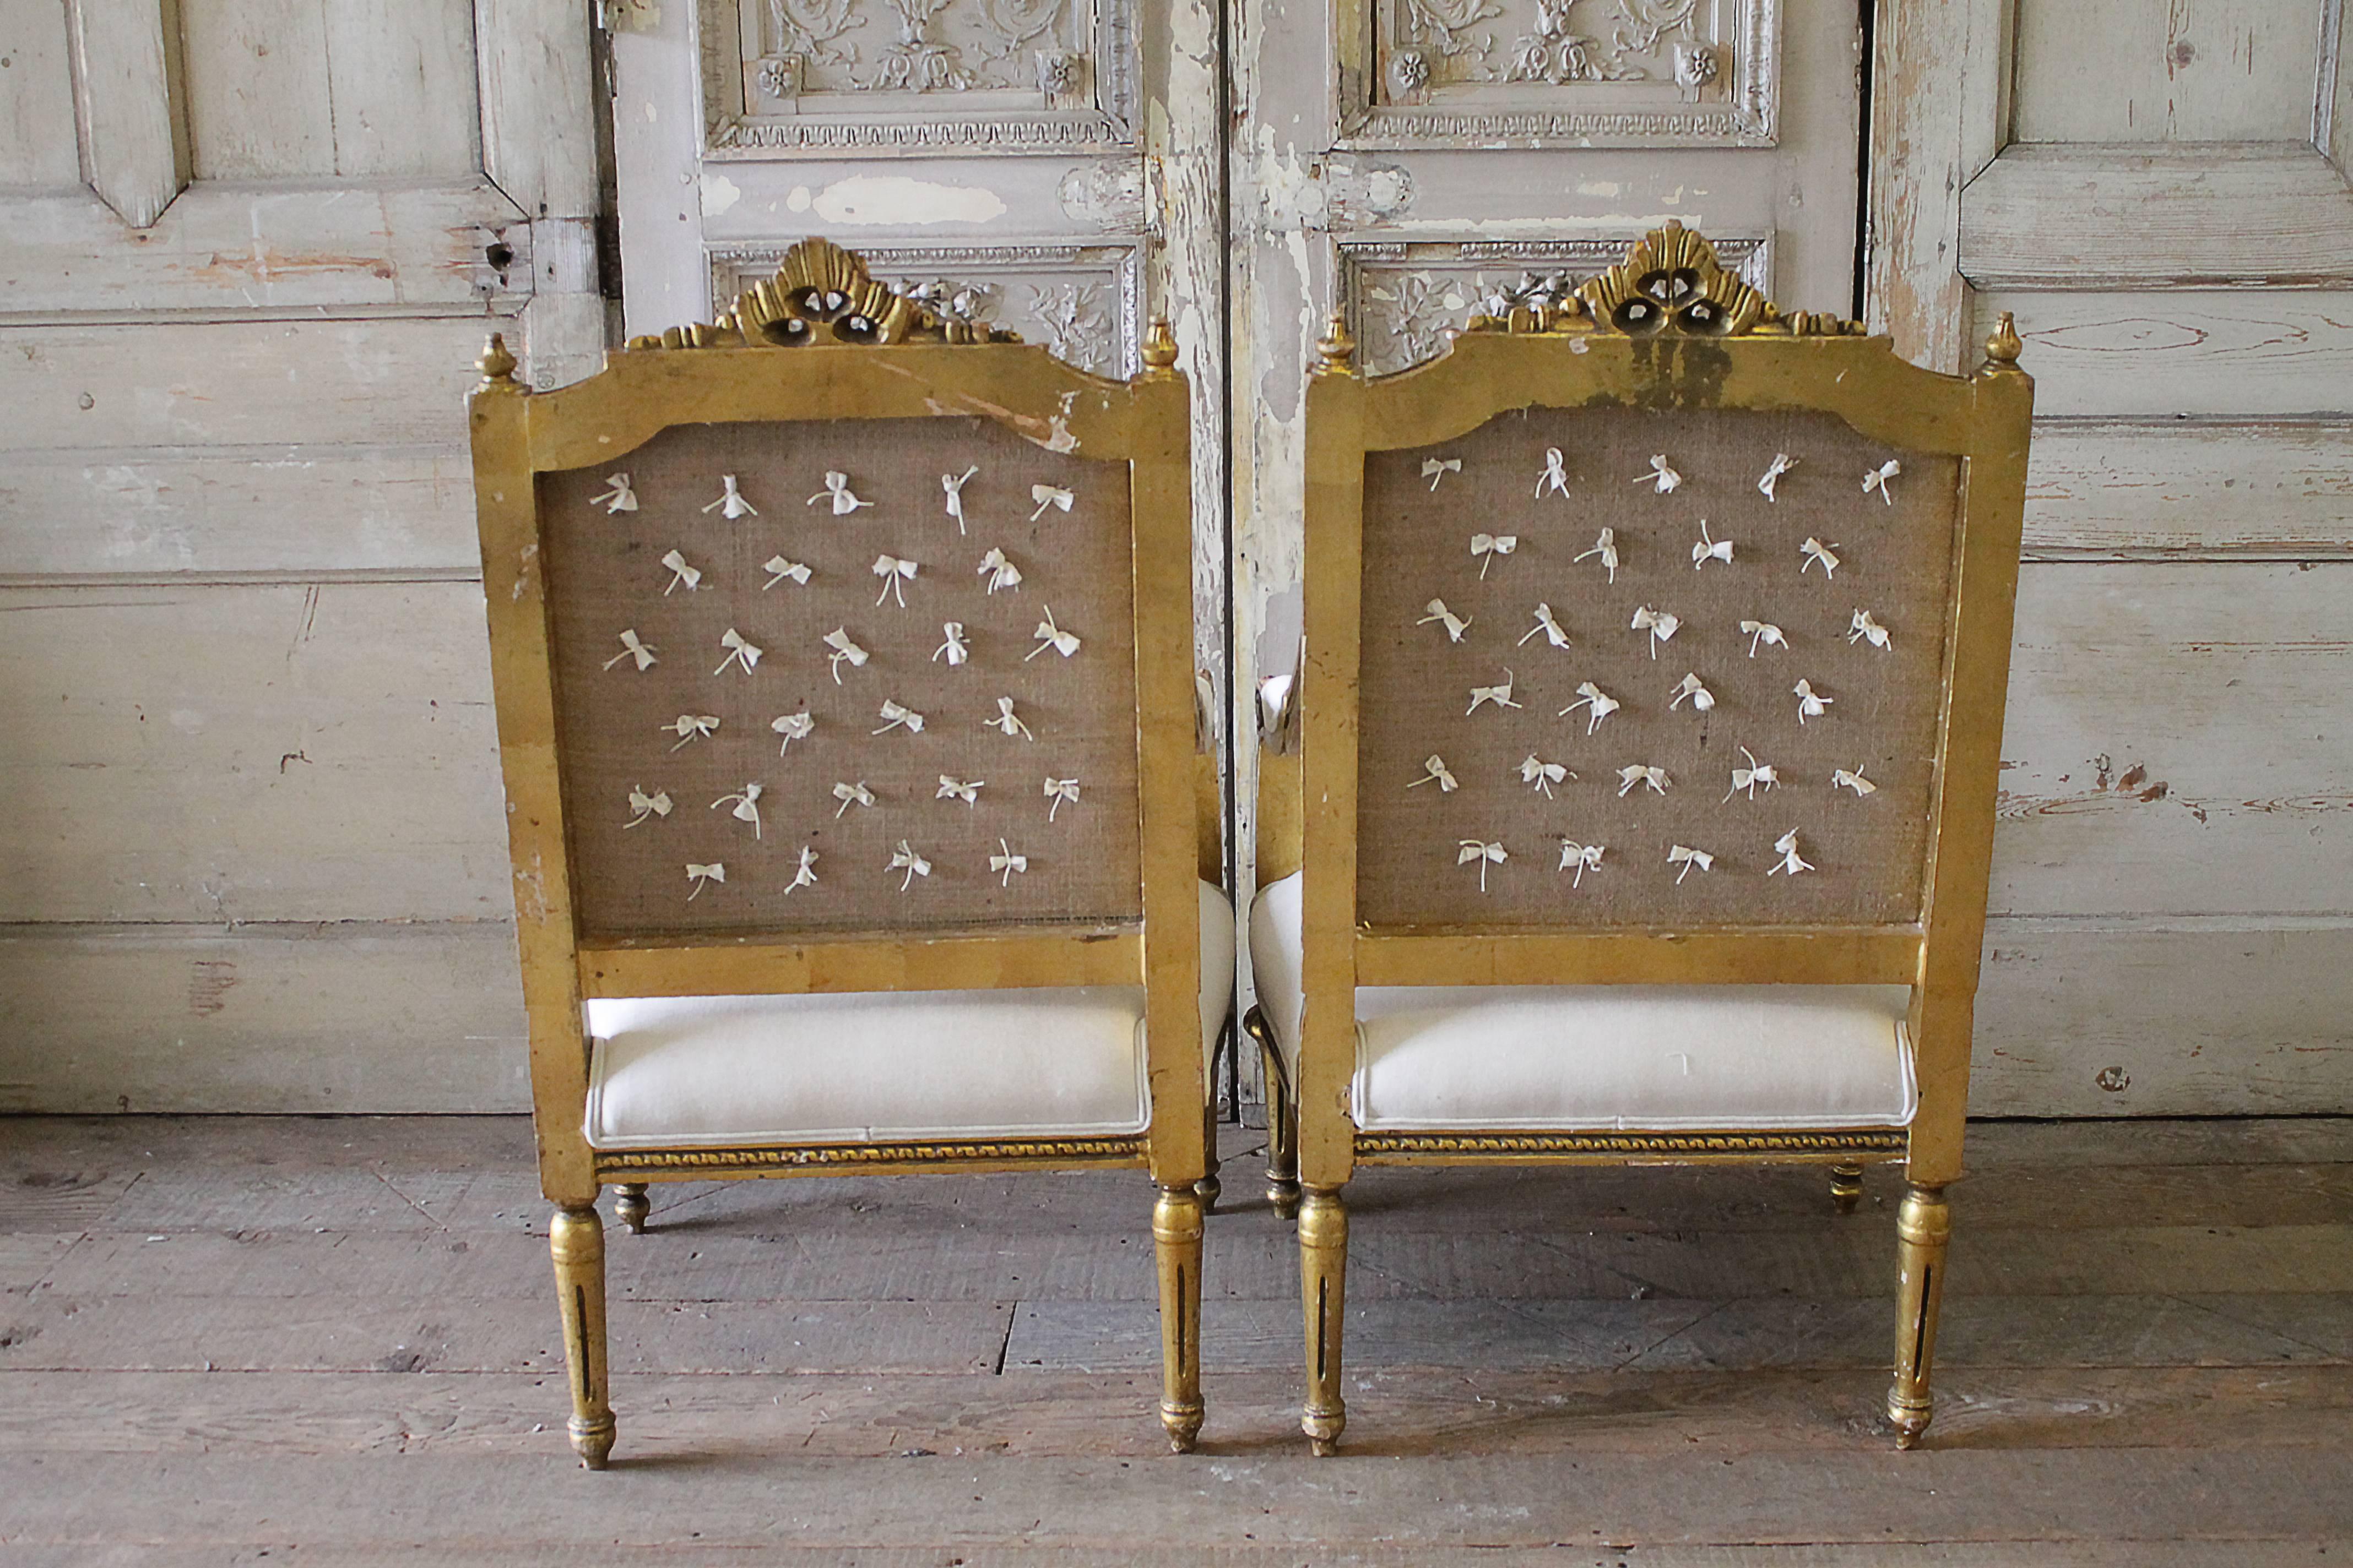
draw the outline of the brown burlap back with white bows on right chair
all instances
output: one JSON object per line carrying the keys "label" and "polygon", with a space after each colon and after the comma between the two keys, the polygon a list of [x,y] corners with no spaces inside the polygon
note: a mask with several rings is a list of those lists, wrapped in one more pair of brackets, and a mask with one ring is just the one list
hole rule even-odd
{"label": "brown burlap back with white bows on right chair", "polygon": [[[1553,447],[1560,487],[1546,477]],[[1680,475],[1668,494],[1652,456]],[[1767,501],[1758,482],[1777,456],[1795,465]],[[1864,489],[1887,461],[1901,463],[1892,503]],[[1358,917],[1388,929],[1915,919],[1955,484],[1953,458],[1880,447],[1835,416],[1744,409],[1529,409],[1369,454]],[[1617,581],[1595,552],[1602,529]],[[1473,552],[1482,534],[1515,543]],[[1732,543],[1729,562],[1708,555],[1713,541]],[[1459,642],[1431,599],[1468,621]],[[1569,646],[1553,646],[1539,604]],[[1635,630],[1642,609],[1675,616],[1673,637]],[[1852,635],[1857,611],[1887,646]],[[1744,621],[1779,628],[1784,646]],[[1697,696],[1671,708],[1685,675],[1713,708]],[[1515,708],[1466,712],[1475,689],[1506,679]],[[1800,679],[1828,698],[1805,722]],[[1584,682],[1621,703],[1593,733],[1591,710],[1572,708]],[[1431,757],[1459,788],[1414,783]],[[1525,780],[1529,759],[1574,778]],[[1779,783],[1727,799],[1734,769],[1755,764]],[[1628,766],[1664,769],[1666,792],[1647,780],[1621,792]],[[1873,792],[1835,785],[1838,771]],[[1791,830],[1812,870],[1774,870]],[[1600,844],[1600,863],[1562,870],[1562,839]],[[1506,858],[1464,863],[1466,842]],[[1671,860],[1675,846],[1713,867]]]}

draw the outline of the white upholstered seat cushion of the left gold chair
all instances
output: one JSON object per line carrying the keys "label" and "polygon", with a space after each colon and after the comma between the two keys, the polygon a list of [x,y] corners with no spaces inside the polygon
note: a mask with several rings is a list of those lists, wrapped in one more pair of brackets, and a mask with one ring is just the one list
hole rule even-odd
{"label": "white upholstered seat cushion of the left gold chair", "polygon": [[[1200,884],[1200,1046],[1233,997]],[[595,1150],[1106,1138],[1151,1124],[1141,985],[588,1001]]]}

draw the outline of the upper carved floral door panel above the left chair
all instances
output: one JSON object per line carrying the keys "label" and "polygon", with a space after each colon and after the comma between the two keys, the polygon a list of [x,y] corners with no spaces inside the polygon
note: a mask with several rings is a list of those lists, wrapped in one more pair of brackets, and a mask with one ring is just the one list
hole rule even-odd
{"label": "upper carved floral door panel above the left chair", "polygon": [[1134,141],[1134,0],[701,0],[713,158]]}

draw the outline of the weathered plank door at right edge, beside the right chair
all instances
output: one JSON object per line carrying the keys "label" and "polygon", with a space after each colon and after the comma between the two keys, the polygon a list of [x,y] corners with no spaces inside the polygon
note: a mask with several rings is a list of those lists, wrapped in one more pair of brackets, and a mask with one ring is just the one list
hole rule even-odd
{"label": "weathered plank door at right edge, beside the right chair", "polygon": [[2344,0],[1889,5],[1871,277],[2038,383],[1977,1100],[2353,1095]]}

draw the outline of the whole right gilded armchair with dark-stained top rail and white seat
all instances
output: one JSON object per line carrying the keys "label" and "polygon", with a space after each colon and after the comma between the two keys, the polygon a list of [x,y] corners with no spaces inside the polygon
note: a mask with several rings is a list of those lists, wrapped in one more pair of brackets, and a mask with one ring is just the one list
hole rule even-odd
{"label": "whole right gilded armchair with dark-stained top rail and white seat", "polygon": [[2033,404],[2009,317],[1939,376],[1668,223],[1433,364],[1320,348],[1249,919],[1308,1439],[1346,1422],[1358,1164],[1819,1161],[1852,1206],[1904,1161],[1913,1446]]}

